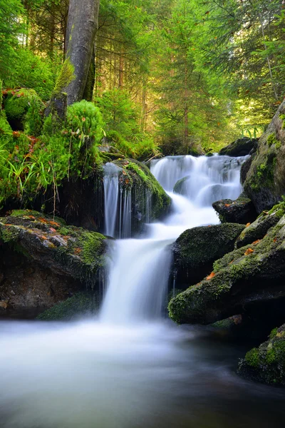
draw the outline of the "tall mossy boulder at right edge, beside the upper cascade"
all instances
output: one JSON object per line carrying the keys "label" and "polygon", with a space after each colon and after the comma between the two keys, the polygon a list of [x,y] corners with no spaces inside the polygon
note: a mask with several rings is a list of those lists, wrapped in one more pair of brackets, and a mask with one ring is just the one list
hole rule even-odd
{"label": "tall mossy boulder at right edge, beside the upper cascade", "polygon": [[247,173],[244,190],[258,213],[278,203],[285,193],[285,101],[259,138],[257,154]]}

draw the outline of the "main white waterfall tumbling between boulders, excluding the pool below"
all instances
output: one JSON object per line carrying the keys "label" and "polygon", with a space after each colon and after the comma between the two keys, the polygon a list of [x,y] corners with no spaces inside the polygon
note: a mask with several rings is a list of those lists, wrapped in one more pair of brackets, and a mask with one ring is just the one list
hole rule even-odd
{"label": "main white waterfall tumbling between boulders, excluding the pool below", "polygon": [[[186,229],[219,223],[212,202],[239,196],[240,168],[246,158],[172,156],[152,163],[152,173],[172,198],[172,214],[164,223],[147,225],[144,238],[113,243],[102,322],[127,325],[160,318],[170,272],[170,244]],[[172,193],[177,180],[186,176],[182,195]],[[127,194],[120,202],[122,238],[130,236],[129,198]],[[150,218],[150,194],[145,200]]]}

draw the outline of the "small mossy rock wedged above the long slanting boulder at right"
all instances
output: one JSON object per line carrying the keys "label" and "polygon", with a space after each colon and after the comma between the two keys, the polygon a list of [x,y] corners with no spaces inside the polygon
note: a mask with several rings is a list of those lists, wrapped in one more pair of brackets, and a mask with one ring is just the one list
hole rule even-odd
{"label": "small mossy rock wedged above the long slanting boulder at right", "polygon": [[247,225],[237,238],[235,248],[244,247],[256,240],[264,238],[267,230],[275,226],[285,214],[285,202],[275,205],[270,211],[263,211],[257,220]]}

